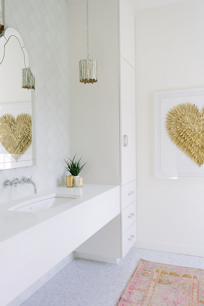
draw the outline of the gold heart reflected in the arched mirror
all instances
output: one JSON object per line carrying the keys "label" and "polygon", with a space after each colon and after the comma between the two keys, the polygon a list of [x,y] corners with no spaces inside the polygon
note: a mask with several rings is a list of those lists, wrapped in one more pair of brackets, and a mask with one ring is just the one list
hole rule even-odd
{"label": "gold heart reflected in the arched mirror", "polygon": [[32,119],[20,114],[16,120],[10,114],[0,117],[0,142],[17,161],[32,143]]}

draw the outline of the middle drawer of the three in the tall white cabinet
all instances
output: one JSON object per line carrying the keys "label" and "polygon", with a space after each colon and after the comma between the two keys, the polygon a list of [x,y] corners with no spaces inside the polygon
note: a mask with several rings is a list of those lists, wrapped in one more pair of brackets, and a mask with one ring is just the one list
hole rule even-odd
{"label": "middle drawer of the three in the tall white cabinet", "polygon": [[136,201],[121,210],[121,234],[124,234],[134,221],[136,221]]}

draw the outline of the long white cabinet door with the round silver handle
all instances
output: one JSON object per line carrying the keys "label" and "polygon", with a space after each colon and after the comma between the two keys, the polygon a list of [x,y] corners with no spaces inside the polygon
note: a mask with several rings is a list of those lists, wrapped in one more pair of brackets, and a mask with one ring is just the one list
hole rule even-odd
{"label": "long white cabinet door with the round silver handle", "polygon": [[119,59],[121,185],[125,185],[136,179],[135,70],[123,57]]}

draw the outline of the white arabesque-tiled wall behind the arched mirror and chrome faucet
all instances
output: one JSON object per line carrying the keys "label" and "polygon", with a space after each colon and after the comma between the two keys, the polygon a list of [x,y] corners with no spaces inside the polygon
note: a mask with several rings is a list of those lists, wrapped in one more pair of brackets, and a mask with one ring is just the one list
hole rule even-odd
{"label": "white arabesque-tiled wall behind the arched mirror and chrome faucet", "polygon": [[64,184],[70,157],[66,0],[5,0],[6,28],[23,37],[36,78],[37,166],[2,170],[0,202],[33,193],[32,185],[5,188],[6,179],[33,175],[38,191]]}

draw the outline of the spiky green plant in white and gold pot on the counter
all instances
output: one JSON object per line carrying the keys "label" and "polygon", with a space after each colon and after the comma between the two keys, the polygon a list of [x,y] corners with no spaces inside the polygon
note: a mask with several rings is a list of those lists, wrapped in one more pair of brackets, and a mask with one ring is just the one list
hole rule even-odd
{"label": "spiky green plant in white and gold pot on the counter", "polygon": [[65,159],[67,165],[65,169],[69,171],[71,175],[74,176],[74,186],[81,187],[83,185],[83,179],[82,177],[79,177],[79,173],[86,163],[83,166],[81,166],[80,161],[82,157],[79,160],[74,161],[76,154],[74,155],[74,158],[72,160],[70,158],[68,158],[67,160]]}

